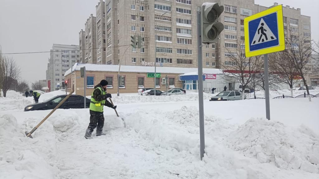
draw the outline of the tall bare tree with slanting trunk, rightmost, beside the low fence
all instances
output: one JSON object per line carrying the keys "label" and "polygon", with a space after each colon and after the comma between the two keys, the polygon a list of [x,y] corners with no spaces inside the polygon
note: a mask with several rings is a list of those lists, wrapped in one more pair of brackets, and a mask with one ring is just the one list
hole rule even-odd
{"label": "tall bare tree with slanting trunk, rightmost, beside the low fence", "polygon": [[296,32],[298,28],[290,27],[288,33],[285,35],[286,49],[282,51],[285,58],[294,65],[298,75],[301,77],[308,94],[308,99],[311,101],[309,95],[309,88],[306,81],[306,75],[311,72],[311,40],[304,34]]}

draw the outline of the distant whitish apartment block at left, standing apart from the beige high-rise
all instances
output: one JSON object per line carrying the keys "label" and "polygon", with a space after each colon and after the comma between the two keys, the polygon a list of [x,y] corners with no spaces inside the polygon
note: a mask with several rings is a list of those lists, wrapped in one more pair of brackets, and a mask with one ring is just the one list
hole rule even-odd
{"label": "distant whitish apartment block at left, standing apart from the beige high-rise", "polygon": [[53,44],[50,50],[49,73],[50,91],[58,90],[57,83],[64,81],[64,73],[75,63],[80,62],[78,45]]}

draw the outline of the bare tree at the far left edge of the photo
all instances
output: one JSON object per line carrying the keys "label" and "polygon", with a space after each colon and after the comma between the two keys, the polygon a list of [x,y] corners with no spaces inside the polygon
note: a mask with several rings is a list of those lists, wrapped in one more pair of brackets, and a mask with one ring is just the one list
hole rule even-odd
{"label": "bare tree at the far left edge of the photo", "polygon": [[2,90],[3,96],[6,97],[7,91],[11,89],[14,82],[18,79],[20,74],[20,68],[12,58],[6,56],[2,57],[2,68],[3,68],[3,79],[2,79]]}

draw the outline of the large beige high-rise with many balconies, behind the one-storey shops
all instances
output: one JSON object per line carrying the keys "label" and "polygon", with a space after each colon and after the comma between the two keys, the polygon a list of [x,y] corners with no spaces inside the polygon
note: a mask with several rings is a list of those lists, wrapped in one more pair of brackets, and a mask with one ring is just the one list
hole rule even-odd
{"label": "large beige high-rise with many balconies, behind the one-storey shops", "polygon": [[[107,64],[144,65],[156,62],[168,67],[197,67],[197,10],[206,1],[198,0],[106,0]],[[236,52],[237,39],[244,46],[244,18],[271,7],[254,0],[212,1],[224,5],[219,21],[225,25],[218,43],[203,46],[203,67],[232,65],[229,56]],[[283,7],[285,33],[310,37],[310,17],[300,9]],[[130,36],[140,35],[143,48],[130,47]],[[156,51],[155,51],[156,49]],[[263,57],[262,57],[263,59]],[[148,63],[146,63],[148,64]]]}

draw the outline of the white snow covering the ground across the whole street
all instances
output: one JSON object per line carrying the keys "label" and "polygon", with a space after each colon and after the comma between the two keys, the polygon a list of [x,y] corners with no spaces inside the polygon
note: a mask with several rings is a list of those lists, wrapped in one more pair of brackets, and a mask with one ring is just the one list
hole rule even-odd
{"label": "white snow covering the ground across the whole street", "polygon": [[[43,94],[39,101],[59,94],[65,92]],[[49,111],[24,112],[33,98],[9,91],[0,98],[0,179],[319,178],[319,98],[271,99],[268,121],[263,99],[210,102],[212,95],[204,94],[201,161],[196,93],[112,96],[126,127],[106,108],[107,135],[93,132],[86,140],[88,109],[59,109],[30,139],[24,132]]]}

